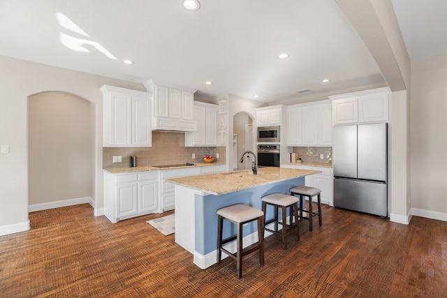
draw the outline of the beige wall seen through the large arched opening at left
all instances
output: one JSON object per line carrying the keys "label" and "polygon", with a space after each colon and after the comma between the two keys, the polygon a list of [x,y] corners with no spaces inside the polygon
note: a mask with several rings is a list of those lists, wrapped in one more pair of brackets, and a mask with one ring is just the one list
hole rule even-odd
{"label": "beige wall seen through the large arched opening at left", "polygon": [[29,96],[29,204],[94,198],[94,112],[73,94]]}

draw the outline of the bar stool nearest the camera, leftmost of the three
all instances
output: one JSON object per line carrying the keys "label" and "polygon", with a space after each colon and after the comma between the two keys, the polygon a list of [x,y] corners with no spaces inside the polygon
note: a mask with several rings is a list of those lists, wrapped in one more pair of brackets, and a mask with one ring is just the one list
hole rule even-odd
{"label": "bar stool nearest the camera, leftmost of the three", "polygon": [[[244,255],[259,250],[259,262],[261,262],[261,265],[264,265],[264,212],[245,204],[234,204],[217,210],[217,215],[217,262],[221,262],[222,251],[230,258],[236,260],[237,278],[242,277],[242,257]],[[237,226],[237,233],[227,239],[222,239],[223,219],[235,223]],[[245,223],[250,223],[251,221],[258,221],[258,245],[244,251],[242,246],[242,227]],[[223,248],[223,244],[227,244],[235,239],[237,246],[236,253],[230,253],[226,248]]]}

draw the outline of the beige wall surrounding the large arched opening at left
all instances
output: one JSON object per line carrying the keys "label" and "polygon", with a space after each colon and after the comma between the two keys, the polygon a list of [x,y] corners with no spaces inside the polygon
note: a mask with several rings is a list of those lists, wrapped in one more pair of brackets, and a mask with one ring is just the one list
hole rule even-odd
{"label": "beige wall surrounding the large arched opening at left", "polygon": [[28,97],[64,91],[96,105],[95,207],[103,207],[102,98],[103,84],[145,91],[142,84],[115,80],[54,66],[0,56],[0,227],[22,229],[28,221]]}

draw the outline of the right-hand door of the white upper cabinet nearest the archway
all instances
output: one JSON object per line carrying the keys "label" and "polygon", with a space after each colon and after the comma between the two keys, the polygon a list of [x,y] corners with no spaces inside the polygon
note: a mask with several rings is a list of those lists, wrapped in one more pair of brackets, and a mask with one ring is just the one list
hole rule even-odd
{"label": "right-hand door of the white upper cabinet nearest the archway", "polygon": [[151,106],[149,98],[132,96],[132,144],[152,146],[150,126]]}

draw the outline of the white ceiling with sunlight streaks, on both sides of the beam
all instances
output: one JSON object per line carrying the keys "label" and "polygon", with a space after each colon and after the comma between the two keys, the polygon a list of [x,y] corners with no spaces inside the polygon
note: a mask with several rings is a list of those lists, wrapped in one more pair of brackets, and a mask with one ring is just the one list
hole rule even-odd
{"label": "white ceiling with sunlight streaks, on both sides of the beam", "polygon": [[[206,96],[258,94],[265,102],[385,82],[335,1],[200,2],[191,12],[180,0],[0,0],[0,54],[132,82],[168,82]],[[425,51],[416,49],[411,17],[430,13],[418,10],[427,2],[444,10],[447,3],[393,0],[411,57]],[[58,12],[88,36],[62,27]],[[68,49],[60,33],[83,39],[89,52]],[[281,52],[290,57],[278,59]],[[330,82],[323,84],[325,78]]]}

